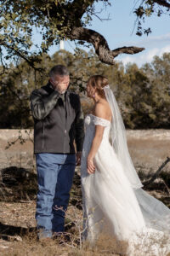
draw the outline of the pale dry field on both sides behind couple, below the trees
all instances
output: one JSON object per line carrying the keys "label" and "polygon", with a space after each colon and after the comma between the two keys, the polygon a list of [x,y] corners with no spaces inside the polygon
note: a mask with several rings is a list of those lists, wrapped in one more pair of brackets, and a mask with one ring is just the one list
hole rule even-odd
{"label": "pale dry field on both sides behind couple, below the trees", "polygon": [[[35,169],[31,131],[0,130],[0,166]],[[15,143],[14,143],[15,142]],[[127,143],[134,165],[149,172],[170,157],[170,130],[127,130]],[[170,172],[170,164],[166,166]]]}

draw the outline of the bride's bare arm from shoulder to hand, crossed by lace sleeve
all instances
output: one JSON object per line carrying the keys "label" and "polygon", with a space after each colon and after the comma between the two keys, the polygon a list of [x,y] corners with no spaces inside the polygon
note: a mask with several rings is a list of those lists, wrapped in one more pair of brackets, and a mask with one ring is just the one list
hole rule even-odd
{"label": "bride's bare arm from shoulder to hand, crossed by lace sleeve", "polygon": [[[99,118],[106,118],[105,115],[105,106],[102,103],[96,104],[96,108],[94,111],[94,115],[99,117]],[[102,125],[95,125],[95,135],[94,135],[94,140],[92,142],[92,146],[90,148],[89,154],[88,154],[88,173],[92,174],[95,172],[95,166],[94,166],[94,156],[97,153],[99,149],[99,145],[102,141],[103,134],[104,134],[104,129],[105,127]]]}

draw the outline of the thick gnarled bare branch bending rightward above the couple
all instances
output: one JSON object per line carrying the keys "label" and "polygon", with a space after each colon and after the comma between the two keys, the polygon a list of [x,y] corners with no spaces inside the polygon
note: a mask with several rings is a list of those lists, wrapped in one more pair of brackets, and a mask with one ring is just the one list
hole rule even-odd
{"label": "thick gnarled bare branch bending rightward above the couple", "polygon": [[90,44],[94,45],[95,53],[99,55],[99,60],[110,65],[114,65],[114,58],[120,54],[136,54],[140,51],[143,51],[144,48],[139,48],[135,46],[122,47],[111,50],[105,38],[99,34],[99,32],[95,32],[94,30],[84,28],[84,27],[74,27],[69,35],[71,40],[80,40],[86,41]]}

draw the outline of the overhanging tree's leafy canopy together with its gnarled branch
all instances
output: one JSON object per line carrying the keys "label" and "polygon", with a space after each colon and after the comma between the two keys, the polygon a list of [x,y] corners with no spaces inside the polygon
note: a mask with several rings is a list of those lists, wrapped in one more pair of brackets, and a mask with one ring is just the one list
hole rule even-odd
{"label": "overhanging tree's leafy canopy together with its gnarled branch", "polygon": [[[99,32],[88,29],[95,15],[95,5],[103,2],[109,9],[110,0],[0,0],[0,61],[3,72],[8,59],[27,61],[36,67],[36,61],[42,52],[47,52],[53,44],[59,44],[62,38],[78,40],[79,44],[92,44],[99,61],[115,64],[117,55],[136,54],[144,48],[135,46],[110,49],[107,41]],[[152,14],[158,16],[169,12],[169,0],[140,0],[134,7],[137,34],[150,33],[144,28],[144,17]],[[121,14],[121,9],[120,9]],[[41,45],[35,44],[32,50],[32,38],[36,31],[42,36]]]}

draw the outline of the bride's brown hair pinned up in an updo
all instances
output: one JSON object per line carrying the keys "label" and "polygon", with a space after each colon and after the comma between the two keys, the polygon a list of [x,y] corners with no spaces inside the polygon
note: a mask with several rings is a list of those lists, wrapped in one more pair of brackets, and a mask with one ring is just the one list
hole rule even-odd
{"label": "bride's brown hair pinned up in an updo", "polygon": [[88,85],[96,88],[96,92],[102,98],[105,98],[104,87],[108,84],[108,79],[100,75],[94,75],[88,79]]}

